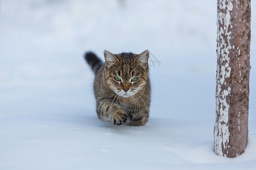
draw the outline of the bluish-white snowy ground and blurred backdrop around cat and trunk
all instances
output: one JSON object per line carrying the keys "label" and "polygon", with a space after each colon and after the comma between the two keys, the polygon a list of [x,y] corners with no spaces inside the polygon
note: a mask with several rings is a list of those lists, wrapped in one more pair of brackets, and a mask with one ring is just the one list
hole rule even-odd
{"label": "bluish-white snowy ground and blurred backdrop around cat and trunk", "polygon": [[[256,2],[249,144],[234,159],[213,152],[216,3],[0,1],[0,169],[256,169]],[[105,49],[159,61],[145,126],[98,120],[83,54]]]}

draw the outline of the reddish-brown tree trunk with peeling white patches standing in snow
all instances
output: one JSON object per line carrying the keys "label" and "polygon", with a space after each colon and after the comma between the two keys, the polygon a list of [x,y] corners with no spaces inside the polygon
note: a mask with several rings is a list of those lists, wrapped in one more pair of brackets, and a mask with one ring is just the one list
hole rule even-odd
{"label": "reddish-brown tree trunk with peeling white patches standing in snow", "polygon": [[248,138],[250,0],[218,0],[217,9],[214,152],[234,158]]}

